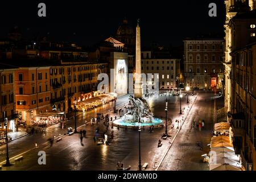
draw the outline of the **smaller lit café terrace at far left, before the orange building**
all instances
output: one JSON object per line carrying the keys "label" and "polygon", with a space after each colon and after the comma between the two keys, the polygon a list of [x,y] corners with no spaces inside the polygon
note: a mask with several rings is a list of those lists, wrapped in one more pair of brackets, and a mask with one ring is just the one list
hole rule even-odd
{"label": "smaller lit caf\u00e9 terrace at far left, before the orange building", "polygon": [[42,113],[42,114],[35,115],[35,117],[32,118],[32,123],[36,126],[48,127],[64,120],[65,120],[64,112]]}

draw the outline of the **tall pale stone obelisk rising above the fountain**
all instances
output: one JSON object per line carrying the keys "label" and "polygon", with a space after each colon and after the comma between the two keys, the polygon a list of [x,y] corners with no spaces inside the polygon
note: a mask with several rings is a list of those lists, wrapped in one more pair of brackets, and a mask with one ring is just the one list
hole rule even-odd
{"label": "tall pale stone obelisk rising above the fountain", "polygon": [[139,19],[136,27],[136,69],[134,83],[134,97],[142,98],[142,81],[141,81],[141,28],[139,27]]}

